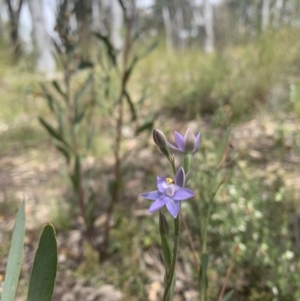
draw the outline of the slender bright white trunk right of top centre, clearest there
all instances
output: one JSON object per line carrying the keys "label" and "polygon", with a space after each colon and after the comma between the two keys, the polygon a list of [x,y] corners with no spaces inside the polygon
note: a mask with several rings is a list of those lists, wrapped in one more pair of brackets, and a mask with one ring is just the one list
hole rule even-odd
{"label": "slender bright white trunk right of top centre, clearest there", "polygon": [[209,0],[204,0],[203,5],[205,28],[204,51],[210,53],[215,50],[213,7]]}

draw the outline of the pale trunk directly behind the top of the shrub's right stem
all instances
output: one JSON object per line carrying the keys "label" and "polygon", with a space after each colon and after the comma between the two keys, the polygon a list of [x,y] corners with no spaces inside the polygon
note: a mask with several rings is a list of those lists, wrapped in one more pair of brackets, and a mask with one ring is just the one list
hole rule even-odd
{"label": "pale trunk directly behind the top of the shrub's right stem", "polygon": [[122,27],[124,22],[123,10],[118,0],[110,0],[111,28],[110,37],[116,49],[122,49]]}

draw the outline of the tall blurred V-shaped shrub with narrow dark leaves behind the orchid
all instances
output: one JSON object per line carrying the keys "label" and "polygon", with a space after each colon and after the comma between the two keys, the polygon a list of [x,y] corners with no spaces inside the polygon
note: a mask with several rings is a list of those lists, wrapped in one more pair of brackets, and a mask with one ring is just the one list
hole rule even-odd
{"label": "tall blurred V-shaped shrub with narrow dark leaves behind the orchid", "polygon": [[[101,42],[100,68],[96,68],[96,63],[80,59],[76,35],[69,27],[67,1],[61,3],[56,25],[60,44],[55,45],[63,80],[54,80],[51,90],[49,85],[42,86],[53,121],[51,123],[44,117],[39,118],[42,126],[53,138],[55,147],[66,159],[68,177],[84,221],[86,238],[98,252],[100,261],[106,258],[113,211],[123,193],[123,127],[126,124],[133,132],[140,133],[152,128],[155,117],[152,114],[144,121],[138,119],[144,97],[135,102],[128,83],[136,64],[155,48],[156,43],[148,45],[140,52],[135,50],[135,44],[141,34],[133,29],[135,7],[134,4],[131,8],[125,7],[122,1],[120,4],[125,20],[124,47],[122,50],[116,49],[106,35],[95,32],[95,38]],[[87,74],[83,73],[83,69],[88,70],[85,71]],[[98,89],[95,88],[96,81],[97,84],[100,83]],[[96,105],[100,106],[102,114],[96,109]],[[104,209],[102,241],[94,223],[96,209],[99,208],[97,195],[93,189],[87,187],[92,175],[84,173],[84,161],[91,151],[99,117],[109,118],[112,124],[110,135],[114,137],[109,150],[114,163],[112,179],[108,181],[107,187],[109,201]]]}

